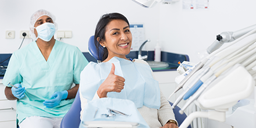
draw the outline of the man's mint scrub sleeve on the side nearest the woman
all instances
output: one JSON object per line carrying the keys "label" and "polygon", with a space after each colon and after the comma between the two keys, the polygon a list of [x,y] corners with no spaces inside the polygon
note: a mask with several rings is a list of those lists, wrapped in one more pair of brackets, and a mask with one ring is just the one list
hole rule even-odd
{"label": "man's mint scrub sleeve on the side nearest the woman", "polygon": [[83,53],[77,48],[74,54],[74,61],[73,61],[73,83],[79,84],[80,83],[80,73],[88,64],[86,57]]}

